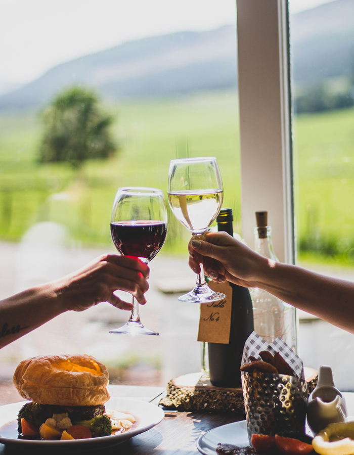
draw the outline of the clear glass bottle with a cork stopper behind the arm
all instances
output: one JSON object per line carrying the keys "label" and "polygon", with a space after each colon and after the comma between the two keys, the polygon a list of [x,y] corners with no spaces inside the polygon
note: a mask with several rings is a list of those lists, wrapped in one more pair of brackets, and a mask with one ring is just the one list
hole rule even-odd
{"label": "clear glass bottle with a cork stopper behind the arm", "polygon": [[[273,250],[272,229],[267,219],[268,212],[256,212],[255,251],[279,262]],[[259,288],[252,289],[251,296],[254,331],[268,343],[279,336],[296,352],[296,309]]]}

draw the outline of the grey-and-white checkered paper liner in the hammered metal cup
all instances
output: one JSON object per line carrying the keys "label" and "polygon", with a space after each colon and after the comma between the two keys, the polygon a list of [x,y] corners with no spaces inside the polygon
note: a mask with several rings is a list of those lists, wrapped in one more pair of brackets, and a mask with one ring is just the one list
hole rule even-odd
{"label": "grey-and-white checkered paper liner in the hammered metal cup", "polygon": [[261,351],[270,351],[273,355],[275,352],[279,352],[283,359],[292,368],[295,376],[300,379],[305,379],[303,362],[300,357],[296,355],[295,352],[290,348],[290,346],[288,346],[280,337],[277,337],[273,343],[268,344],[256,332],[252,332],[245,342],[241,367],[245,365],[245,363],[250,362],[250,356],[260,359],[259,352]]}

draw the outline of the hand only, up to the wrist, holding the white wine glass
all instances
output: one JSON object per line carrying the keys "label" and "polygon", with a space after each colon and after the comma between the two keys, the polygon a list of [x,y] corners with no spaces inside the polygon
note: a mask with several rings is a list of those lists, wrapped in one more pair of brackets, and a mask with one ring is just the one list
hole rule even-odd
{"label": "hand only, up to the wrist, holding the white wine glass", "polygon": [[256,287],[268,259],[252,251],[225,232],[207,232],[204,241],[191,240],[188,244],[189,266],[198,274],[199,263],[205,275],[213,281],[225,280],[244,287]]}

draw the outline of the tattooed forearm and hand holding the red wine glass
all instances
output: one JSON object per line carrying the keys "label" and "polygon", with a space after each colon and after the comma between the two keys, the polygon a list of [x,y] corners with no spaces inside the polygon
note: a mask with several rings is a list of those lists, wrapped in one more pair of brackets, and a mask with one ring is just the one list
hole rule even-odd
{"label": "tattooed forearm and hand holding the red wine glass", "polygon": [[103,254],[84,267],[0,301],[0,348],[65,311],[83,311],[100,302],[131,310],[117,289],[146,302],[149,267],[137,258]]}

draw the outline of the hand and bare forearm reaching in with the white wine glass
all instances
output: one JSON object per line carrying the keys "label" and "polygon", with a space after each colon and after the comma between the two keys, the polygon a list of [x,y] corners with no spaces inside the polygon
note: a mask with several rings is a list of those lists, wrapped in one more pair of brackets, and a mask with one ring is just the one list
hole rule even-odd
{"label": "hand and bare forearm reaching in with the white wine glass", "polygon": [[207,233],[191,240],[189,263],[213,280],[261,288],[296,308],[354,333],[354,283],[316,274],[296,265],[271,261],[225,233]]}

